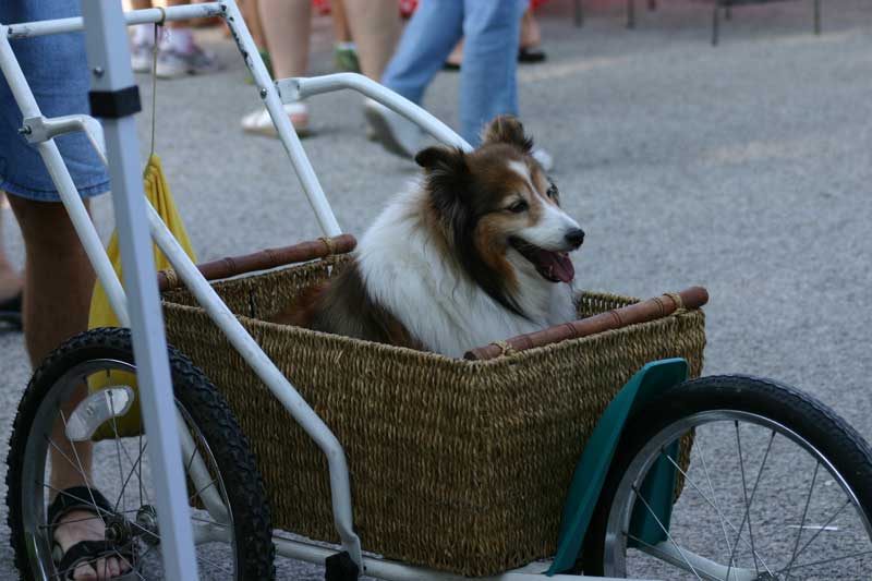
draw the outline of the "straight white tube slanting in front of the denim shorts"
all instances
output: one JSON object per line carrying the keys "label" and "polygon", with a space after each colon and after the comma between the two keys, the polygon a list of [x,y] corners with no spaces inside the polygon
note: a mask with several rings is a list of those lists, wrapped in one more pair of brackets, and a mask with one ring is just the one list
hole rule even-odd
{"label": "straight white tube slanting in front of the denim shorts", "polygon": [[[78,20],[81,21],[82,19]],[[7,28],[7,26],[0,24],[0,69],[24,118],[43,117],[31,86],[24,78],[19,61],[15,59],[14,52],[12,52]],[[94,222],[90,221],[87,209],[85,209],[85,204],[78,196],[73,179],[63,164],[58,146],[53,140],[48,140],[37,144],[37,149],[46,164],[49,175],[51,175],[51,181],[58,187],[61,202],[63,202],[66,213],[70,215],[73,228],[78,234],[78,240],[82,241],[82,246],[85,249],[85,254],[87,254],[97,278],[106,290],[106,296],[109,299],[109,304],[112,306],[112,311],[116,312],[116,316],[118,316],[119,324],[122,327],[130,327],[124,289],[121,287],[118,276],[116,276],[112,263],[102,247],[102,242],[100,242],[100,237],[94,228]]]}

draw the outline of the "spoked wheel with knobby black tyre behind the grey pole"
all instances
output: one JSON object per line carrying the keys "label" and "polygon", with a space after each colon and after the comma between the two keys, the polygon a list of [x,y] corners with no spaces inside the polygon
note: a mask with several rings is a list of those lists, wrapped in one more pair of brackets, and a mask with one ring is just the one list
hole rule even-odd
{"label": "spoked wheel with knobby black tyre behind the grey pole", "polygon": [[[269,510],[247,441],[203,373],[175,349],[170,348],[169,355],[201,576],[210,580],[272,579]],[[148,462],[142,425],[132,436],[119,435],[122,414],[111,415],[99,425],[99,429],[108,428],[109,437],[82,444],[93,439],[96,427],[92,425],[81,435],[82,425],[87,424],[82,420],[94,415],[84,403],[94,402],[92,408],[99,409],[97,403],[126,397],[128,404],[136,406],[136,392],[114,386],[113,379],[110,394],[120,399],[100,394],[75,407],[65,403],[73,395],[81,399],[87,394],[89,378],[135,372],[130,331],[94,329],[69,340],[34,373],[19,404],[7,460],[9,525],[15,565],[23,578],[66,579],[69,571],[58,570],[52,560],[55,525],[48,522],[47,507],[51,497],[63,496],[61,488],[73,489],[68,488],[71,480],[105,497],[101,501],[83,493],[77,501],[88,505],[84,509],[93,519],[102,520],[106,541],[129,562],[135,572],[131,577],[166,577],[150,487],[154,467]],[[66,464],[66,482],[58,482],[57,473],[52,480],[52,462]]]}

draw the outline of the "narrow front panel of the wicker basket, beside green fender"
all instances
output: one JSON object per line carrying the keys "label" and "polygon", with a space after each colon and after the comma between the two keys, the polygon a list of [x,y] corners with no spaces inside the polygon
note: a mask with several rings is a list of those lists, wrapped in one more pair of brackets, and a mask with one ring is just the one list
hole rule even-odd
{"label": "narrow front panel of the wicker basket, beside green fender", "polygon": [[[483,481],[499,485],[476,529],[482,554],[511,555],[504,570],[554,555],[576,463],[605,408],[650,361],[685,358],[698,377],[704,344],[698,311],[502,358],[499,370],[479,375],[476,382],[499,392],[486,406],[494,419],[485,438],[493,461]],[[688,460],[679,459],[685,467]]]}

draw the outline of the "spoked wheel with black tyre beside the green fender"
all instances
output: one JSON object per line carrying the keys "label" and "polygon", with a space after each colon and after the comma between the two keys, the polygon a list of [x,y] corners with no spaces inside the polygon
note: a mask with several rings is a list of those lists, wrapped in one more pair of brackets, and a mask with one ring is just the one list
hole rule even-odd
{"label": "spoked wheel with black tyre beside the green fender", "polygon": [[[669,450],[690,432],[682,470]],[[664,463],[683,479],[666,518],[643,484]],[[642,537],[640,518],[655,534]],[[787,386],[704,377],[671,388],[628,424],[583,569],[669,580],[868,579],[871,523],[872,452],[856,431]]]}

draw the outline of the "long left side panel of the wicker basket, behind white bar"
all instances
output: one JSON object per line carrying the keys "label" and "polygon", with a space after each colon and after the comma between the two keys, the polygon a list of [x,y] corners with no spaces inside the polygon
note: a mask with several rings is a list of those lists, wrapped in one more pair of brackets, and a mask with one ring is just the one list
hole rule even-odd
{"label": "long left side panel of the wicker basket, behind white bar", "polygon": [[[249,437],[274,525],[337,541],[324,455],[205,313],[182,305],[167,310],[171,341],[183,344],[204,368]],[[355,530],[367,549],[425,564],[423,547],[435,543],[431,552],[446,538],[463,536],[470,523],[464,507],[487,506],[487,489],[475,475],[482,446],[470,421],[479,414],[468,404],[475,375],[469,365],[305,329],[242,323],[342,443]],[[469,494],[458,499],[458,491]],[[431,525],[421,530],[422,522]]]}

